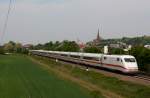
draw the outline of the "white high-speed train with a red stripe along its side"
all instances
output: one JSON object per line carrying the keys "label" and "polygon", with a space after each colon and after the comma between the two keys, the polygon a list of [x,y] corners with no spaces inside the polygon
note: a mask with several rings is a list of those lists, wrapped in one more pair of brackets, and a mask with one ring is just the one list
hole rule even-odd
{"label": "white high-speed train with a red stripe along its side", "polygon": [[33,55],[52,57],[65,61],[118,70],[124,73],[138,72],[136,59],[131,55],[105,55],[96,53],[60,52],[45,50],[30,50],[30,53]]}

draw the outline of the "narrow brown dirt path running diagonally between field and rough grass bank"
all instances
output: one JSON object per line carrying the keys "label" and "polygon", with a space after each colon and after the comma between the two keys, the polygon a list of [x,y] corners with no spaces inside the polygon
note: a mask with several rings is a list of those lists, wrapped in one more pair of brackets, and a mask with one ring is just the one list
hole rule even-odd
{"label": "narrow brown dirt path running diagonally between field and rough grass bank", "polygon": [[29,59],[34,62],[34,63],[37,63],[38,65],[41,65],[40,67],[41,68],[44,68],[45,70],[47,70],[48,72],[54,72],[55,74],[57,74],[58,76],[60,76],[61,78],[63,79],[67,79],[67,80],[70,80],[74,83],[77,83],[78,85],[88,89],[89,91],[98,91],[98,92],[101,92],[102,95],[106,98],[123,98],[122,96],[119,96],[113,92],[110,92],[108,90],[105,90],[105,89],[102,89],[94,84],[91,84],[89,82],[86,82],[86,81],[83,81],[81,79],[78,79],[78,78],[75,78],[63,71],[60,71],[56,68],[51,68],[50,66],[48,66],[47,64],[44,64],[44,63],[41,63],[40,61],[37,61],[36,59],[34,58],[31,58],[29,57]]}

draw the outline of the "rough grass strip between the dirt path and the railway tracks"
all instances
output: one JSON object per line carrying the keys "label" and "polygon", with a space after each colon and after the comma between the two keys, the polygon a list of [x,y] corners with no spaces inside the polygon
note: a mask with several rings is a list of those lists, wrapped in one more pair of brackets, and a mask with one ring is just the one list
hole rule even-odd
{"label": "rough grass strip between the dirt path and the railway tracks", "polygon": [[108,90],[115,94],[118,94],[124,98],[149,98],[150,97],[150,87],[143,85],[134,84],[131,82],[125,82],[113,77],[107,77],[95,71],[86,72],[78,67],[71,66],[69,64],[56,63],[53,60],[34,57],[41,62],[48,64],[51,68],[58,69],[68,73],[69,75],[87,81],[96,85],[97,87]]}

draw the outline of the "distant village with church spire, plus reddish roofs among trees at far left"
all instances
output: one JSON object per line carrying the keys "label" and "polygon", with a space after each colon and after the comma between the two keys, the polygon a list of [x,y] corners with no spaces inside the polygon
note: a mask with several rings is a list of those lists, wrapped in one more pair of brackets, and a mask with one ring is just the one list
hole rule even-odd
{"label": "distant village with church spire, plus reddish roofs among trees at far left", "polygon": [[[98,29],[97,36],[92,41],[87,43],[82,43],[80,41],[76,42],[80,48],[84,47],[98,47],[103,48],[104,46],[108,46],[109,48],[119,48],[123,49],[124,51],[128,51],[132,48],[132,46],[141,45],[145,48],[150,49],[150,36],[142,36],[142,37],[135,37],[135,38],[127,38],[124,37],[122,39],[103,39],[100,36],[100,32]],[[31,49],[34,45],[32,44],[25,44],[22,47],[26,49]]]}

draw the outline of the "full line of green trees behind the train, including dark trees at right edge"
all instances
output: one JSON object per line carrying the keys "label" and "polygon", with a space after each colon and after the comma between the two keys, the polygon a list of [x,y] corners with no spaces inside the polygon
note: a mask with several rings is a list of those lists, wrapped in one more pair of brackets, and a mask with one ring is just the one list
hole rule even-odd
{"label": "full line of green trees behind the train, including dark trees at right edge", "polygon": [[[0,54],[4,53],[23,53],[28,54],[29,49],[43,49],[43,50],[52,50],[52,51],[67,51],[67,52],[81,52],[79,45],[75,41],[64,40],[62,42],[48,42],[45,44],[33,45],[29,48],[23,47],[21,43],[15,43],[10,41],[0,47]],[[87,53],[103,53],[103,47],[96,46],[87,46],[83,48],[82,52]],[[145,48],[144,46],[138,45],[134,46],[128,52],[125,52],[120,48],[109,48],[109,54],[118,54],[124,55],[129,54],[133,55],[139,65],[139,69],[150,73],[150,49]]]}

